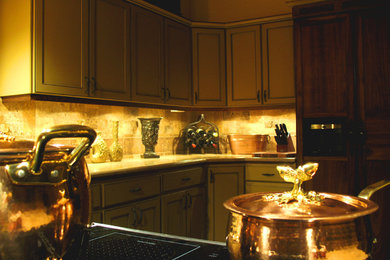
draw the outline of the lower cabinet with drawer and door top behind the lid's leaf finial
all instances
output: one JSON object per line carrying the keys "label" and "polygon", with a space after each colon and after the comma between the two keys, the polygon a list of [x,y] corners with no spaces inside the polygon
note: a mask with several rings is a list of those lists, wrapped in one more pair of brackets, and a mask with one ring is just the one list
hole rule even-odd
{"label": "lower cabinet with drawer and door top behind the lid's leaf finial", "polygon": [[295,169],[295,163],[248,163],[245,167],[245,191],[283,192],[291,190],[292,183],[285,182],[276,170],[278,165],[288,165]]}

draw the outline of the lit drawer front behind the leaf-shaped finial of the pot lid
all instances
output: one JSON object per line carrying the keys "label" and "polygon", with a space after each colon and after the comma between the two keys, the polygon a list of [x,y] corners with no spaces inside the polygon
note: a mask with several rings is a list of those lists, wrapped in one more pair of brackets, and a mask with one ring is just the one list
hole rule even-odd
{"label": "lit drawer front behind the leaf-shaped finial of the pot lid", "polygon": [[276,166],[278,165],[288,165],[295,169],[295,164],[283,164],[283,163],[248,164],[246,166],[245,179],[250,181],[284,182],[282,177],[280,177],[279,172],[276,170]]}

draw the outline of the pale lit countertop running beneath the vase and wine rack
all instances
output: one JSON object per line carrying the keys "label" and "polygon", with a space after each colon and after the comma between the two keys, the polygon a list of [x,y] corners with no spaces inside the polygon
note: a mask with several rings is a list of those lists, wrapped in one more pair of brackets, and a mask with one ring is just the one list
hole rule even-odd
{"label": "pale lit countertop running beneath the vase and wine rack", "polygon": [[[87,159],[88,162],[88,159]],[[107,176],[118,173],[132,173],[140,171],[160,170],[166,168],[189,166],[200,163],[240,163],[240,162],[280,162],[293,163],[295,157],[252,157],[251,155],[232,154],[191,154],[165,155],[156,159],[141,157],[123,158],[120,162],[91,163],[88,169],[92,177]]]}

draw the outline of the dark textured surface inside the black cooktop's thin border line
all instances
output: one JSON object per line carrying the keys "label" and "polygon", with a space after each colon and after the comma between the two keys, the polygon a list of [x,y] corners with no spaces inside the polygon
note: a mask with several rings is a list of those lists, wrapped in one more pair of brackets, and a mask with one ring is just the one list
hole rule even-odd
{"label": "dark textured surface inside the black cooktop's thin border line", "polygon": [[188,259],[200,246],[114,232],[92,238],[87,259]]}

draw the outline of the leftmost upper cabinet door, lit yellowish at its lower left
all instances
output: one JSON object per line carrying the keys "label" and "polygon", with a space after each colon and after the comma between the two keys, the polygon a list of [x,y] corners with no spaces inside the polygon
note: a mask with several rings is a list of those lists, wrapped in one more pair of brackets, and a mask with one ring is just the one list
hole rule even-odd
{"label": "leftmost upper cabinet door, lit yellowish at its lower left", "polygon": [[36,92],[87,96],[88,2],[38,0],[36,11]]}

